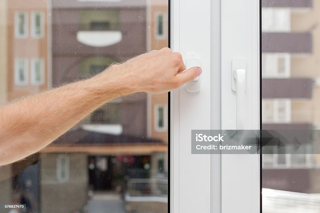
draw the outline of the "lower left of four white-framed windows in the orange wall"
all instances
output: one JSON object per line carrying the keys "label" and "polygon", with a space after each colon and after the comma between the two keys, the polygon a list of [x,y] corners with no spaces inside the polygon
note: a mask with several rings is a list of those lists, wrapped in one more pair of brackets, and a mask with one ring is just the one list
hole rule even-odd
{"label": "lower left of four white-framed windows in the orange wall", "polygon": [[16,58],[14,68],[14,83],[16,85],[28,84],[28,58]]}

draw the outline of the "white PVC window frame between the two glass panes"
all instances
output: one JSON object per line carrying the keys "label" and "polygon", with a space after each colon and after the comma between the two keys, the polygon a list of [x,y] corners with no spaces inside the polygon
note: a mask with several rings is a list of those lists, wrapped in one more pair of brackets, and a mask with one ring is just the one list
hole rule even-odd
{"label": "white PVC window frame between the two glass panes", "polygon": [[[260,212],[260,155],[192,155],[192,129],[236,129],[231,62],[246,60],[245,129],[260,129],[260,5],[171,1],[171,49],[201,59],[201,88],[171,92],[172,213]],[[192,15],[190,15],[192,14]]]}

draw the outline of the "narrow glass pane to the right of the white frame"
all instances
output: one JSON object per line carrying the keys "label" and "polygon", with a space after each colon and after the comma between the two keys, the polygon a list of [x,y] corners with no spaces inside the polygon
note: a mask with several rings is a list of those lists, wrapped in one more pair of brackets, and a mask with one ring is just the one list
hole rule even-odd
{"label": "narrow glass pane to the right of the white frame", "polygon": [[[263,129],[319,130],[318,3],[262,0]],[[264,213],[320,212],[319,144],[307,139],[265,149]]]}

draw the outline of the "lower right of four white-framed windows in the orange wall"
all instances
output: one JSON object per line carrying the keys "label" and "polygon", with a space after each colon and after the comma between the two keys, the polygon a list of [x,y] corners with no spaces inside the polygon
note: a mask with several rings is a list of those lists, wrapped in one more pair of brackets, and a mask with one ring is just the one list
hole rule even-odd
{"label": "lower right of four white-framed windows in the orange wall", "polygon": [[44,59],[43,58],[31,59],[31,83],[33,85],[44,84]]}

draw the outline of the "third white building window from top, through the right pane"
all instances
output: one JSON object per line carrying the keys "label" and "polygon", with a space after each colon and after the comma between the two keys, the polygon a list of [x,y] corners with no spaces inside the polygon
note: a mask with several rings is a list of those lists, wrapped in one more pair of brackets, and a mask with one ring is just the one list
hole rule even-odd
{"label": "third white building window from top, through the right pane", "polygon": [[290,99],[262,99],[262,123],[290,123]]}

